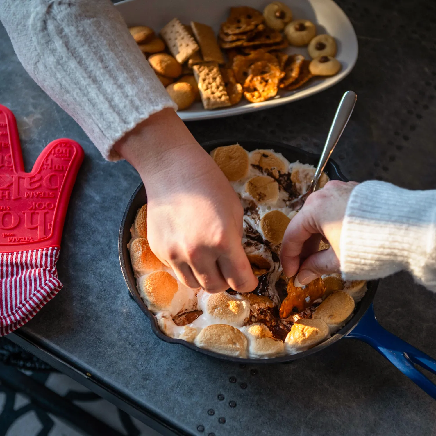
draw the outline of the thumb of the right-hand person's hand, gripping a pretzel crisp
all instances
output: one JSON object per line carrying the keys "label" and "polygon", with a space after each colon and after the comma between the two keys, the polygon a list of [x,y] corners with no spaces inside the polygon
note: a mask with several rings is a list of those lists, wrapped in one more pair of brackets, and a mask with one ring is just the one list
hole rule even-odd
{"label": "thumb of the right-hand person's hand, gripping a pretzel crisp", "polygon": [[294,284],[297,287],[307,285],[311,281],[323,274],[340,272],[341,265],[339,259],[330,247],[310,255],[301,265]]}

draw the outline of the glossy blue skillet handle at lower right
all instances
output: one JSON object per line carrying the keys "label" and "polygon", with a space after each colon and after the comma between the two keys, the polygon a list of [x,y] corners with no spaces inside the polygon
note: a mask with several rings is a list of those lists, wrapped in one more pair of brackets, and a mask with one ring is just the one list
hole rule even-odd
{"label": "glossy blue skillet handle at lower right", "polygon": [[353,337],[371,345],[424,392],[436,399],[436,385],[415,368],[415,365],[419,365],[436,374],[436,360],[381,327],[375,319],[372,304],[345,337]]}

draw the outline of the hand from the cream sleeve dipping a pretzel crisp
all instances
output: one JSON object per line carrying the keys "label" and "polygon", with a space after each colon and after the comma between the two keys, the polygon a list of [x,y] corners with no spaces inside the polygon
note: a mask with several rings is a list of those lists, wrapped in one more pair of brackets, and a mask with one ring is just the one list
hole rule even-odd
{"label": "hand from the cream sleeve dipping a pretzel crisp", "polygon": [[[347,202],[357,182],[329,181],[323,189],[310,194],[303,208],[291,220],[283,236],[281,260],[283,272],[292,277],[295,286],[310,283],[323,274],[340,272],[342,221]],[[300,266],[305,245],[315,235],[330,244],[327,250],[308,253]]]}

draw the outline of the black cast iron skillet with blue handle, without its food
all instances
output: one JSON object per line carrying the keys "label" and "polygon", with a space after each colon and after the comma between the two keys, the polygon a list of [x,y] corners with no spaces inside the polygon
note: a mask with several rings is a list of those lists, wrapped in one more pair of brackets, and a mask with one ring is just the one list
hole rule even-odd
{"label": "black cast iron skillet with blue handle, without its food", "polygon": [[[208,152],[213,150],[217,146],[225,146],[234,144],[234,140],[218,140],[204,144],[204,149]],[[239,141],[239,144],[245,148],[245,150],[252,151],[255,149],[273,149],[279,153],[282,153],[286,159],[290,162],[299,160],[304,164],[317,165],[319,155],[308,153],[307,151],[300,150],[296,147],[292,147],[282,143],[270,142],[270,141]],[[347,181],[344,175],[339,170],[337,164],[329,160],[325,169],[330,179]],[[237,363],[249,363],[249,364],[262,364],[262,363],[279,363],[288,362],[296,359],[304,358],[310,354],[317,353],[324,348],[330,346],[336,341],[339,341],[342,337],[352,337],[367,342],[374,347],[380,354],[385,356],[392,362],[400,371],[407,375],[412,381],[414,381],[425,392],[436,399],[436,385],[434,385],[428,378],[426,378],[421,372],[419,372],[414,364],[421,365],[429,371],[436,374],[436,361],[412,347],[410,344],[402,341],[392,333],[383,329],[375,319],[374,309],[372,307],[372,300],[377,290],[378,281],[368,282],[368,290],[362,300],[356,305],[354,316],[351,320],[334,334],[330,339],[310,348],[310,350],[303,351],[299,354],[286,355],[270,359],[240,359],[223,354],[218,354],[213,351],[205,350],[203,348],[196,347],[180,339],[173,339],[163,334],[158,325],[157,320],[153,314],[148,310],[145,303],[141,300],[138,290],[136,289],[136,279],[133,276],[133,269],[130,263],[129,251],[127,249],[127,243],[130,240],[130,226],[136,216],[138,209],[147,202],[147,196],[144,185],[141,183],[136,191],[133,193],[126,206],[126,211],[121,221],[119,228],[119,261],[121,269],[123,271],[124,279],[126,280],[129,288],[130,296],[136,301],[141,310],[150,318],[151,328],[153,332],[163,341],[173,344],[182,344],[185,347],[191,348],[199,353],[206,354],[225,361],[232,361]]]}

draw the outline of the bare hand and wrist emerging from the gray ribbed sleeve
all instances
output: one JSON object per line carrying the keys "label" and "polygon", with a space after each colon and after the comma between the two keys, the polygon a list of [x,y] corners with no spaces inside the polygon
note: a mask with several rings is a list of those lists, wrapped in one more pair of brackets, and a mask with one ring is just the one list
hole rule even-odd
{"label": "bare hand and wrist emerging from the gray ribbed sleeve", "polygon": [[250,292],[257,286],[242,248],[243,209],[227,178],[173,109],[140,123],[114,149],[147,191],[147,238],[191,288]]}

